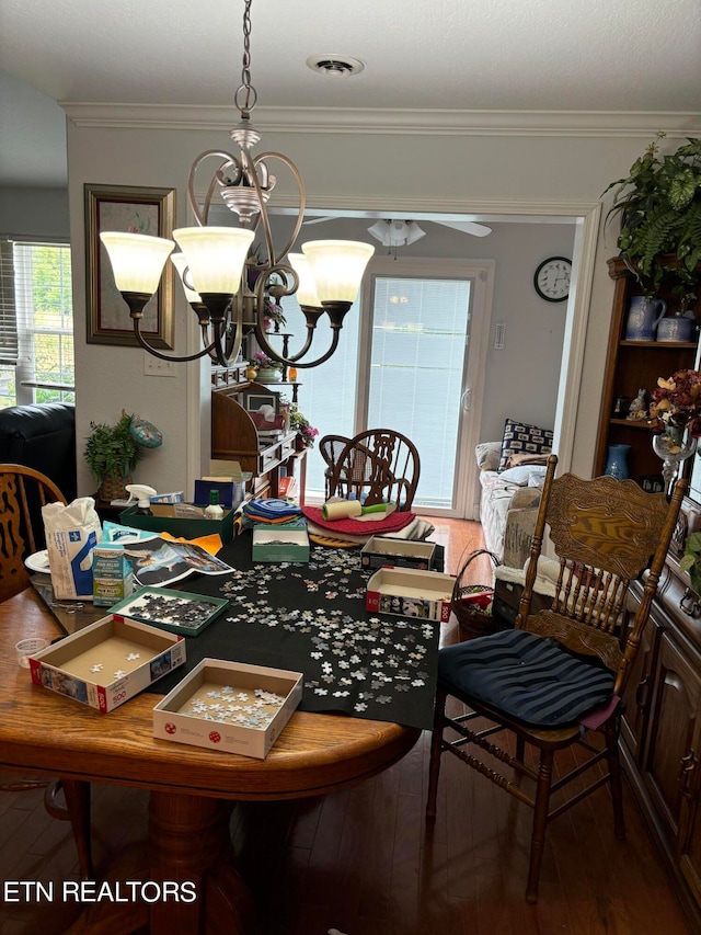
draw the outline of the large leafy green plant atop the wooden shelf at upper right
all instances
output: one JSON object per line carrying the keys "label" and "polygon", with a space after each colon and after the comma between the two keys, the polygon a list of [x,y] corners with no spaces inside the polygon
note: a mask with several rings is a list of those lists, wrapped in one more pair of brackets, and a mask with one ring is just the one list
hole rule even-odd
{"label": "large leafy green plant atop the wooden shelf at upper right", "polygon": [[659,157],[657,134],[616,189],[607,221],[620,217],[617,246],[647,297],[664,278],[675,277],[683,312],[701,281],[701,139],[688,138],[676,152]]}

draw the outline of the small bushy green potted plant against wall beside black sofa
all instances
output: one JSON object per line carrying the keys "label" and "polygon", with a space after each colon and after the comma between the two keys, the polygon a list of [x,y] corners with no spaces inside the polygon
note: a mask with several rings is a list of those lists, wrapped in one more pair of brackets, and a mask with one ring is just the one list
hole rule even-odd
{"label": "small bushy green potted plant against wall beside black sofa", "polygon": [[97,481],[97,500],[111,501],[126,497],[125,484],[140,460],[142,451],[131,433],[131,417],[123,411],[116,425],[91,422],[83,457]]}

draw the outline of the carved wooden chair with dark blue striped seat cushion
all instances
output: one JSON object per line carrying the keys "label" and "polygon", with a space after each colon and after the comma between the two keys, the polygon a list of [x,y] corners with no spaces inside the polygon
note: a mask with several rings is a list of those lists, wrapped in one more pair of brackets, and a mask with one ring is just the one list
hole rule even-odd
{"label": "carved wooden chair with dark blue striped seat cushion", "polygon": [[[632,480],[583,480],[571,474],[555,478],[556,464],[552,455],[515,629],[439,651],[426,807],[434,818],[443,753],[455,754],[530,806],[526,900],[531,903],[538,898],[552,819],[610,783],[614,833],[625,834],[618,760],[621,697],[687,488],[685,480],[678,481],[668,501],[664,493],[643,492]],[[545,534],[560,565],[555,596],[551,607],[531,614]],[[639,578],[643,597],[631,616],[625,595]],[[501,744],[495,734],[504,738]],[[560,766],[553,778],[555,754],[574,744],[585,756],[577,756],[578,765],[567,773]],[[481,753],[492,759],[485,762]],[[497,772],[494,757],[513,775]],[[572,780],[577,782],[568,795],[555,795]]]}

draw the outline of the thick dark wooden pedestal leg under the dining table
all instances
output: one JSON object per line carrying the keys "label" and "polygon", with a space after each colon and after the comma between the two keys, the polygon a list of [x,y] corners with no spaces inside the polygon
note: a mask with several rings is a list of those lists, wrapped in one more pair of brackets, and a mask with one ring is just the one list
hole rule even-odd
{"label": "thick dark wooden pedestal leg under the dining table", "polygon": [[219,799],[151,793],[149,806],[150,868],[154,881],[189,881],[196,899],[182,886],[179,899],[149,905],[152,935],[187,932],[251,935],[255,932],[252,897],[233,868],[229,832],[231,807]]}

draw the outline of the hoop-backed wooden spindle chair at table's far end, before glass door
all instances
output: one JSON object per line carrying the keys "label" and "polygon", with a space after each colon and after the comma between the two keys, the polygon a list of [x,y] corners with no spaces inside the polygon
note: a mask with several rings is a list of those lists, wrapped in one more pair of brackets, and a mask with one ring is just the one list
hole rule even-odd
{"label": "hoop-backed wooden spindle chair at table's far end, before glass door", "polygon": [[421,475],[414,443],[392,429],[369,429],[350,438],[336,457],[329,495],[356,498],[367,506],[393,503],[411,510]]}

